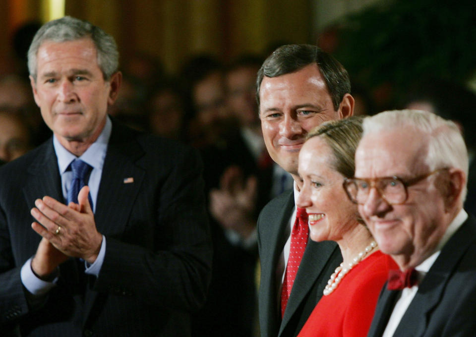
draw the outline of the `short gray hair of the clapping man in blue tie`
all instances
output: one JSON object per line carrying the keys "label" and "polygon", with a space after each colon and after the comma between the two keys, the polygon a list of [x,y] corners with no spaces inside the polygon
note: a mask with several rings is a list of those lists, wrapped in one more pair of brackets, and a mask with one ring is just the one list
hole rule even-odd
{"label": "short gray hair of the clapping man in blue tie", "polygon": [[56,43],[91,38],[96,47],[98,65],[105,80],[119,67],[119,52],[114,38],[98,26],[71,16],[45,23],[35,34],[28,50],[28,71],[36,81],[38,49],[45,41]]}

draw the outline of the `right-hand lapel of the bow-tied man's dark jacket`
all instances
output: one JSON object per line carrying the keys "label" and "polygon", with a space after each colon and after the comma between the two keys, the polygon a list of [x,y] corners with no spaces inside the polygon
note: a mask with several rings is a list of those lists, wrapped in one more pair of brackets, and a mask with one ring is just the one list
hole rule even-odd
{"label": "right-hand lapel of the bow-tied man's dark jacket", "polygon": [[[421,281],[414,299],[395,331],[395,336],[423,335],[430,319],[429,312],[438,305],[454,269],[475,239],[475,221],[468,218],[444,245],[440,255]],[[409,326],[413,327],[410,332]]]}

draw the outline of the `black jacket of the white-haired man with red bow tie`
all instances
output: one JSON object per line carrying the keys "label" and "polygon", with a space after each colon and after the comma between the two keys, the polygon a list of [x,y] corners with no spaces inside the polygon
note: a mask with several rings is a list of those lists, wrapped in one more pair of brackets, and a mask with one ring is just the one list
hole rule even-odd
{"label": "black jacket of the white-haired man with red bow tie", "polygon": [[[380,293],[369,337],[382,336],[399,291]],[[396,337],[476,336],[476,220],[469,218],[444,245],[418,286]]]}

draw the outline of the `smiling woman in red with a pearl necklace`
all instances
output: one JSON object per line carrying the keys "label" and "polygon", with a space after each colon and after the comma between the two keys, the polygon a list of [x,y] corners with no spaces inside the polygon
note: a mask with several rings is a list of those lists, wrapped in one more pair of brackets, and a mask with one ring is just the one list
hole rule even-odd
{"label": "smiling woman in red with a pearl necklace", "polygon": [[321,124],[309,132],[299,153],[302,187],[297,206],[309,216],[314,241],[336,241],[344,262],[337,266],[299,333],[305,336],[364,337],[372,320],[378,294],[396,264],[378,251],[357,205],[343,187],[354,175],[354,155],[362,134],[362,117]]}

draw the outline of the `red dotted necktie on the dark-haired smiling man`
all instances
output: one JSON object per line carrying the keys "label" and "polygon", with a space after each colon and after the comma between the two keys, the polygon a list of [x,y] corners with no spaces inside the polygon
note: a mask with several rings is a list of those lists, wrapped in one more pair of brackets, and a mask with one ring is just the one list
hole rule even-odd
{"label": "red dotted necktie on the dark-haired smiling man", "polygon": [[291,232],[291,247],[289,251],[288,265],[284,276],[281,290],[281,317],[284,316],[289,295],[296,279],[297,269],[301,263],[302,255],[306,249],[307,237],[309,236],[309,226],[307,225],[307,213],[305,208],[296,209],[296,222]]}

